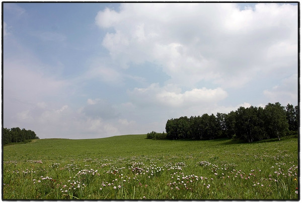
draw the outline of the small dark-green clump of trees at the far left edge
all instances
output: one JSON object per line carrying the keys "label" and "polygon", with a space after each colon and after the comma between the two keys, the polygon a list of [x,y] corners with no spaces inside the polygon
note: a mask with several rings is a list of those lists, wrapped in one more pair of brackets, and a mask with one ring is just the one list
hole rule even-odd
{"label": "small dark-green clump of trees at the far left edge", "polygon": [[19,127],[13,127],[11,129],[2,128],[2,144],[9,143],[27,143],[31,139],[39,139],[33,130],[20,129]]}

